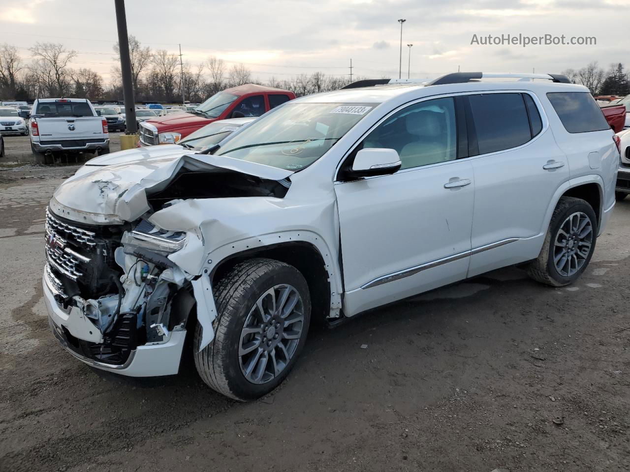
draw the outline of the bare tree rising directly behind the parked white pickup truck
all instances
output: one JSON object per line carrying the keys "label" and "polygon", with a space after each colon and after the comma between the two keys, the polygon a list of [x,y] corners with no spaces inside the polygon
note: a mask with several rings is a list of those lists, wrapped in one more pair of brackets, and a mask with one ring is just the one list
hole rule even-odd
{"label": "bare tree rising directly behind the parked white pickup truck", "polygon": [[[61,43],[35,43],[31,48],[33,66],[31,70],[45,80],[48,92],[52,96],[69,94],[68,64],[77,55],[75,50],[68,50]],[[52,87],[56,87],[56,90]]]}

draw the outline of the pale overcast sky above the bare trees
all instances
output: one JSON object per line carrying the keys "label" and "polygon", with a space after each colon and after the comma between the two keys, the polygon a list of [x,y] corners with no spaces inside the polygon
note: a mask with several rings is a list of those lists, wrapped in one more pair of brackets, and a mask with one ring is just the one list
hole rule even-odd
{"label": "pale overcast sky above the bare trees", "polygon": [[[154,49],[178,52],[198,65],[210,55],[243,62],[261,80],[321,70],[355,76],[398,76],[400,25],[403,76],[447,72],[560,72],[592,60],[630,67],[630,0],[127,0],[129,33]],[[592,46],[471,45],[476,34],[596,37]],[[28,59],[35,42],[79,51],[72,67],[108,80],[117,40],[112,0],[23,0],[0,3],[0,43]]]}

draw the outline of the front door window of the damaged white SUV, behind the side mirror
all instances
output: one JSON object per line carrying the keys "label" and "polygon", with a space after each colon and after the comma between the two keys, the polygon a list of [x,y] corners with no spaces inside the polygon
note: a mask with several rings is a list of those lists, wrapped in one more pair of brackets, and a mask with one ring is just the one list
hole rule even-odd
{"label": "front door window of the damaged white SUV, behind the side mirror", "polygon": [[364,140],[363,148],[396,149],[401,169],[457,159],[452,98],[416,103],[390,116]]}

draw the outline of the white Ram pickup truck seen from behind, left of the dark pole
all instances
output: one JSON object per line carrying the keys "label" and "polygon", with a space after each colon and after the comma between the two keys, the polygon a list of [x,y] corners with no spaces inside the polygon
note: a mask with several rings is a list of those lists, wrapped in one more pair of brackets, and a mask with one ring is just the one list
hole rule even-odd
{"label": "white Ram pickup truck seen from behind, left of the dark pole", "polygon": [[105,117],[84,98],[40,98],[30,119],[31,150],[35,155],[110,152]]}

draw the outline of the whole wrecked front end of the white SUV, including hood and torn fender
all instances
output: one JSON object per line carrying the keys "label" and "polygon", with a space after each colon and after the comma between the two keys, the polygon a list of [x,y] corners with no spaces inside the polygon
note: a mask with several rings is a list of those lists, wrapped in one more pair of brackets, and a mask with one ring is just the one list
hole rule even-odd
{"label": "whole wrecked front end of the white SUV, including hood and torn fender", "polygon": [[[212,341],[216,308],[204,268],[211,249],[202,225],[215,220],[193,202],[281,200],[292,174],[212,159],[101,167],[55,191],[43,291],[51,328],[75,357],[129,376],[168,375],[178,372],[188,320],[201,327],[199,349]],[[171,217],[159,227],[154,218],[165,212]]]}

